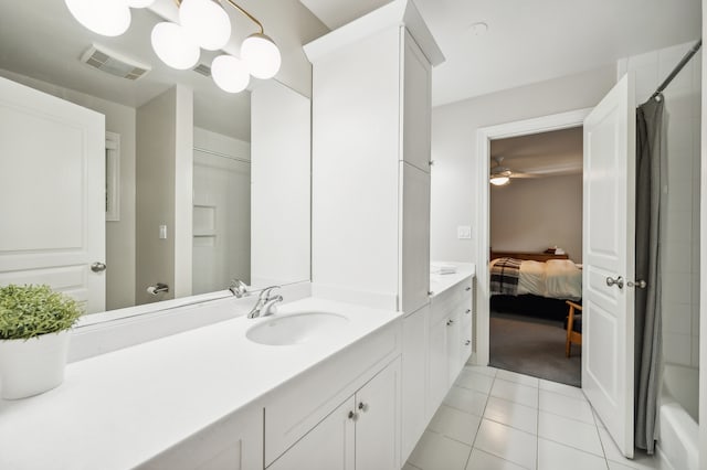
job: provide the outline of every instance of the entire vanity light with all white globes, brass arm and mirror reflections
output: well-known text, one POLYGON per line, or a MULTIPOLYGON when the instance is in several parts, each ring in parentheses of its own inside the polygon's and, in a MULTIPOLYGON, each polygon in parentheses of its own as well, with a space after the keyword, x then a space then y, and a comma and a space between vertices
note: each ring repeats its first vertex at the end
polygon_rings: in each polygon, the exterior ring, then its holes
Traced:
MULTIPOLYGON (((155 0, 64 0, 81 24, 98 34, 116 36, 130 25, 130 8, 149 7, 155 0)), ((187 70, 199 62, 199 47, 217 51, 231 39, 231 19, 219 0, 175 0, 179 24, 165 21, 152 29, 151 42, 157 56, 172 68, 187 70)), ((268 79, 279 71, 282 57, 275 42, 255 17, 234 0, 224 0, 258 28, 241 44, 241 58, 220 55, 212 64, 215 84, 228 93, 238 93, 250 75, 268 79)))

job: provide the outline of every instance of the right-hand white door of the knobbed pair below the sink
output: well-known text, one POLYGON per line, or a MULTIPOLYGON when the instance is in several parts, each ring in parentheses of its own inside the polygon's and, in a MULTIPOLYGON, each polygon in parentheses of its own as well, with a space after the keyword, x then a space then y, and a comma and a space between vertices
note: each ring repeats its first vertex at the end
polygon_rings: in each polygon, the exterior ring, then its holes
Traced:
POLYGON ((399 360, 391 363, 356 393, 356 413, 358 414, 356 468, 358 470, 399 470, 401 467, 399 360))

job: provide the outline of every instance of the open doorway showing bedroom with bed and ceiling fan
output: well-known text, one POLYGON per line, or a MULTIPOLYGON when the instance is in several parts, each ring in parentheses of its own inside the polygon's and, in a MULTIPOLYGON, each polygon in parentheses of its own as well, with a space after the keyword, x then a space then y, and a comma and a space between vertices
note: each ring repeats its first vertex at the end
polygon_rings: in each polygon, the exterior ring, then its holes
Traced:
POLYGON ((489 157, 489 365, 581 386, 579 338, 569 356, 566 340, 582 297, 582 128, 494 139, 489 157))

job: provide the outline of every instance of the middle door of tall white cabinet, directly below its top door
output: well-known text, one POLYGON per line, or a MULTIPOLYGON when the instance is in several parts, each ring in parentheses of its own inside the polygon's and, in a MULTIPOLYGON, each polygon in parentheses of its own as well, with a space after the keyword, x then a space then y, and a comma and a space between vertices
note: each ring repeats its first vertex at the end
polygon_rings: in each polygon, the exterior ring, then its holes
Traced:
POLYGON ((401 163, 401 309, 413 312, 430 301, 430 173, 401 163))

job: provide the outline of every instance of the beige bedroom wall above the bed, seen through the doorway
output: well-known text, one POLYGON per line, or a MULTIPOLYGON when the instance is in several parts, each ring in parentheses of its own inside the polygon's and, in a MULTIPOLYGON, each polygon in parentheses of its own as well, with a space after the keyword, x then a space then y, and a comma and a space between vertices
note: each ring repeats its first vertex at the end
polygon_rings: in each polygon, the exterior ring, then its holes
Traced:
POLYGON ((490 247, 542 252, 558 246, 582 261, 582 175, 514 179, 490 186, 490 247))

